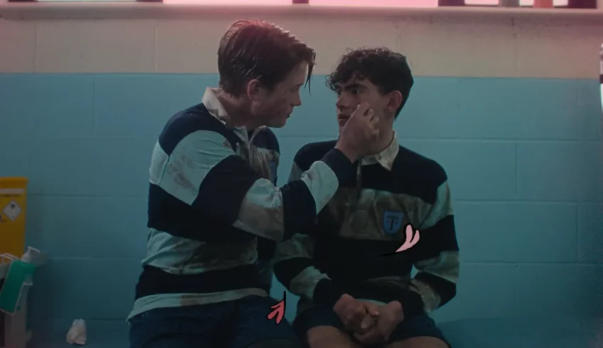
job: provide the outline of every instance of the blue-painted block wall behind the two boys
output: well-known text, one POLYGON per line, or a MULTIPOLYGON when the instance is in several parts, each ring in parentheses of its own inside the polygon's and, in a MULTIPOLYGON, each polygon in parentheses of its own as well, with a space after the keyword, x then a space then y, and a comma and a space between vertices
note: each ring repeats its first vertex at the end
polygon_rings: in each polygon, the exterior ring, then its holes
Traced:
MULTIPOLYGON (((28 244, 51 257, 35 279, 38 320, 125 318, 155 137, 216 82, 0 74, 0 176, 31 179, 28 244)), ((321 76, 311 87, 277 130, 281 183, 299 147, 336 136, 335 96, 321 76)), ((603 314, 601 114, 596 80, 416 79, 396 128, 448 171, 463 259, 436 318, 603 314)))

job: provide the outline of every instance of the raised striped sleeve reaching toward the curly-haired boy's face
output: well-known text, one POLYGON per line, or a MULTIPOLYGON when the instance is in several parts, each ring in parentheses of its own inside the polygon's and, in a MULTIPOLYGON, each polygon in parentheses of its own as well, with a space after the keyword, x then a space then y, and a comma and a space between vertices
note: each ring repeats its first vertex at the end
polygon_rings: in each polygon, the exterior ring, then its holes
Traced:
POLYGON ((162 167, 155 171, 160 177, 151 178, 154 184, 204 216, 283 240, 314 221, 352 163, 333 149, 299 179, 278 187, 262 179, 223 135, 197 130, 176 145, 165 163, 152 167, 162 167))

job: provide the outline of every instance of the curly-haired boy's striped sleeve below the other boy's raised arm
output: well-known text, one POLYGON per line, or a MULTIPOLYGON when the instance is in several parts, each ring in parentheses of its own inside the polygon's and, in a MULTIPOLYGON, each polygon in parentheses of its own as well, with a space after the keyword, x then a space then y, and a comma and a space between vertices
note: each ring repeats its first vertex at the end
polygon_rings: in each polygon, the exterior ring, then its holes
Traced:
MULTIPOLYGON (((294 162, 289 182, 299 180, 302 175, 302 169, 294 162)), ((314 227, 311 225, 309 229, 314 227)), ((289 292, 314 303, 333 305, 343 292, 335 287, 326 274, 314 267, 313 257, 314 238, 311 233, 297 233, 289 240, 277 243, 275 276, 289 292)))

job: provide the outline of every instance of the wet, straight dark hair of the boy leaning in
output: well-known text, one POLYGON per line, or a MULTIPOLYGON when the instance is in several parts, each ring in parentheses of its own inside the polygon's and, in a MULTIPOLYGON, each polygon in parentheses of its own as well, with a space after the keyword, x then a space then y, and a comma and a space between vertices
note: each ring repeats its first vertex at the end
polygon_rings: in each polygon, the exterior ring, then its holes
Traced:
POLYGON ((272 90, 302 62, 309 65, 307 84, 315 59, 313 49, 275 24, 260 20, 236 21, 220 40, 219 84, 234 96, 244 93, 250 79, 258 79, 272 90))

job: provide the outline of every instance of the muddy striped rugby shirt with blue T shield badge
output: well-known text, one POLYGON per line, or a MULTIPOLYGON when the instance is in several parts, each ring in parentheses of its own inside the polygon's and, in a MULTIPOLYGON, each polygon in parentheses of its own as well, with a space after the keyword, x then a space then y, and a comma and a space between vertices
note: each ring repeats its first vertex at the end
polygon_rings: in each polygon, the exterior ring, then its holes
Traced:
MULTIPOLYGON (((328 153, 335 141, 299 150, 290 181, 328 153)), ((333 306, 343 293, 359 299, 399 301, 410 318, 430 313, 456 293, 459 275, 450 189, 444 169, 394 140, 365 157, 309 230, 277 243, 275 276, 300 296, 298 314, 316 304, 333 306), (392 255, 407 224, 419 242, 392 255), (383 256, 390 254, 389 256, 383 256), (411 279, 413 266, 419 271, 411 279)))

